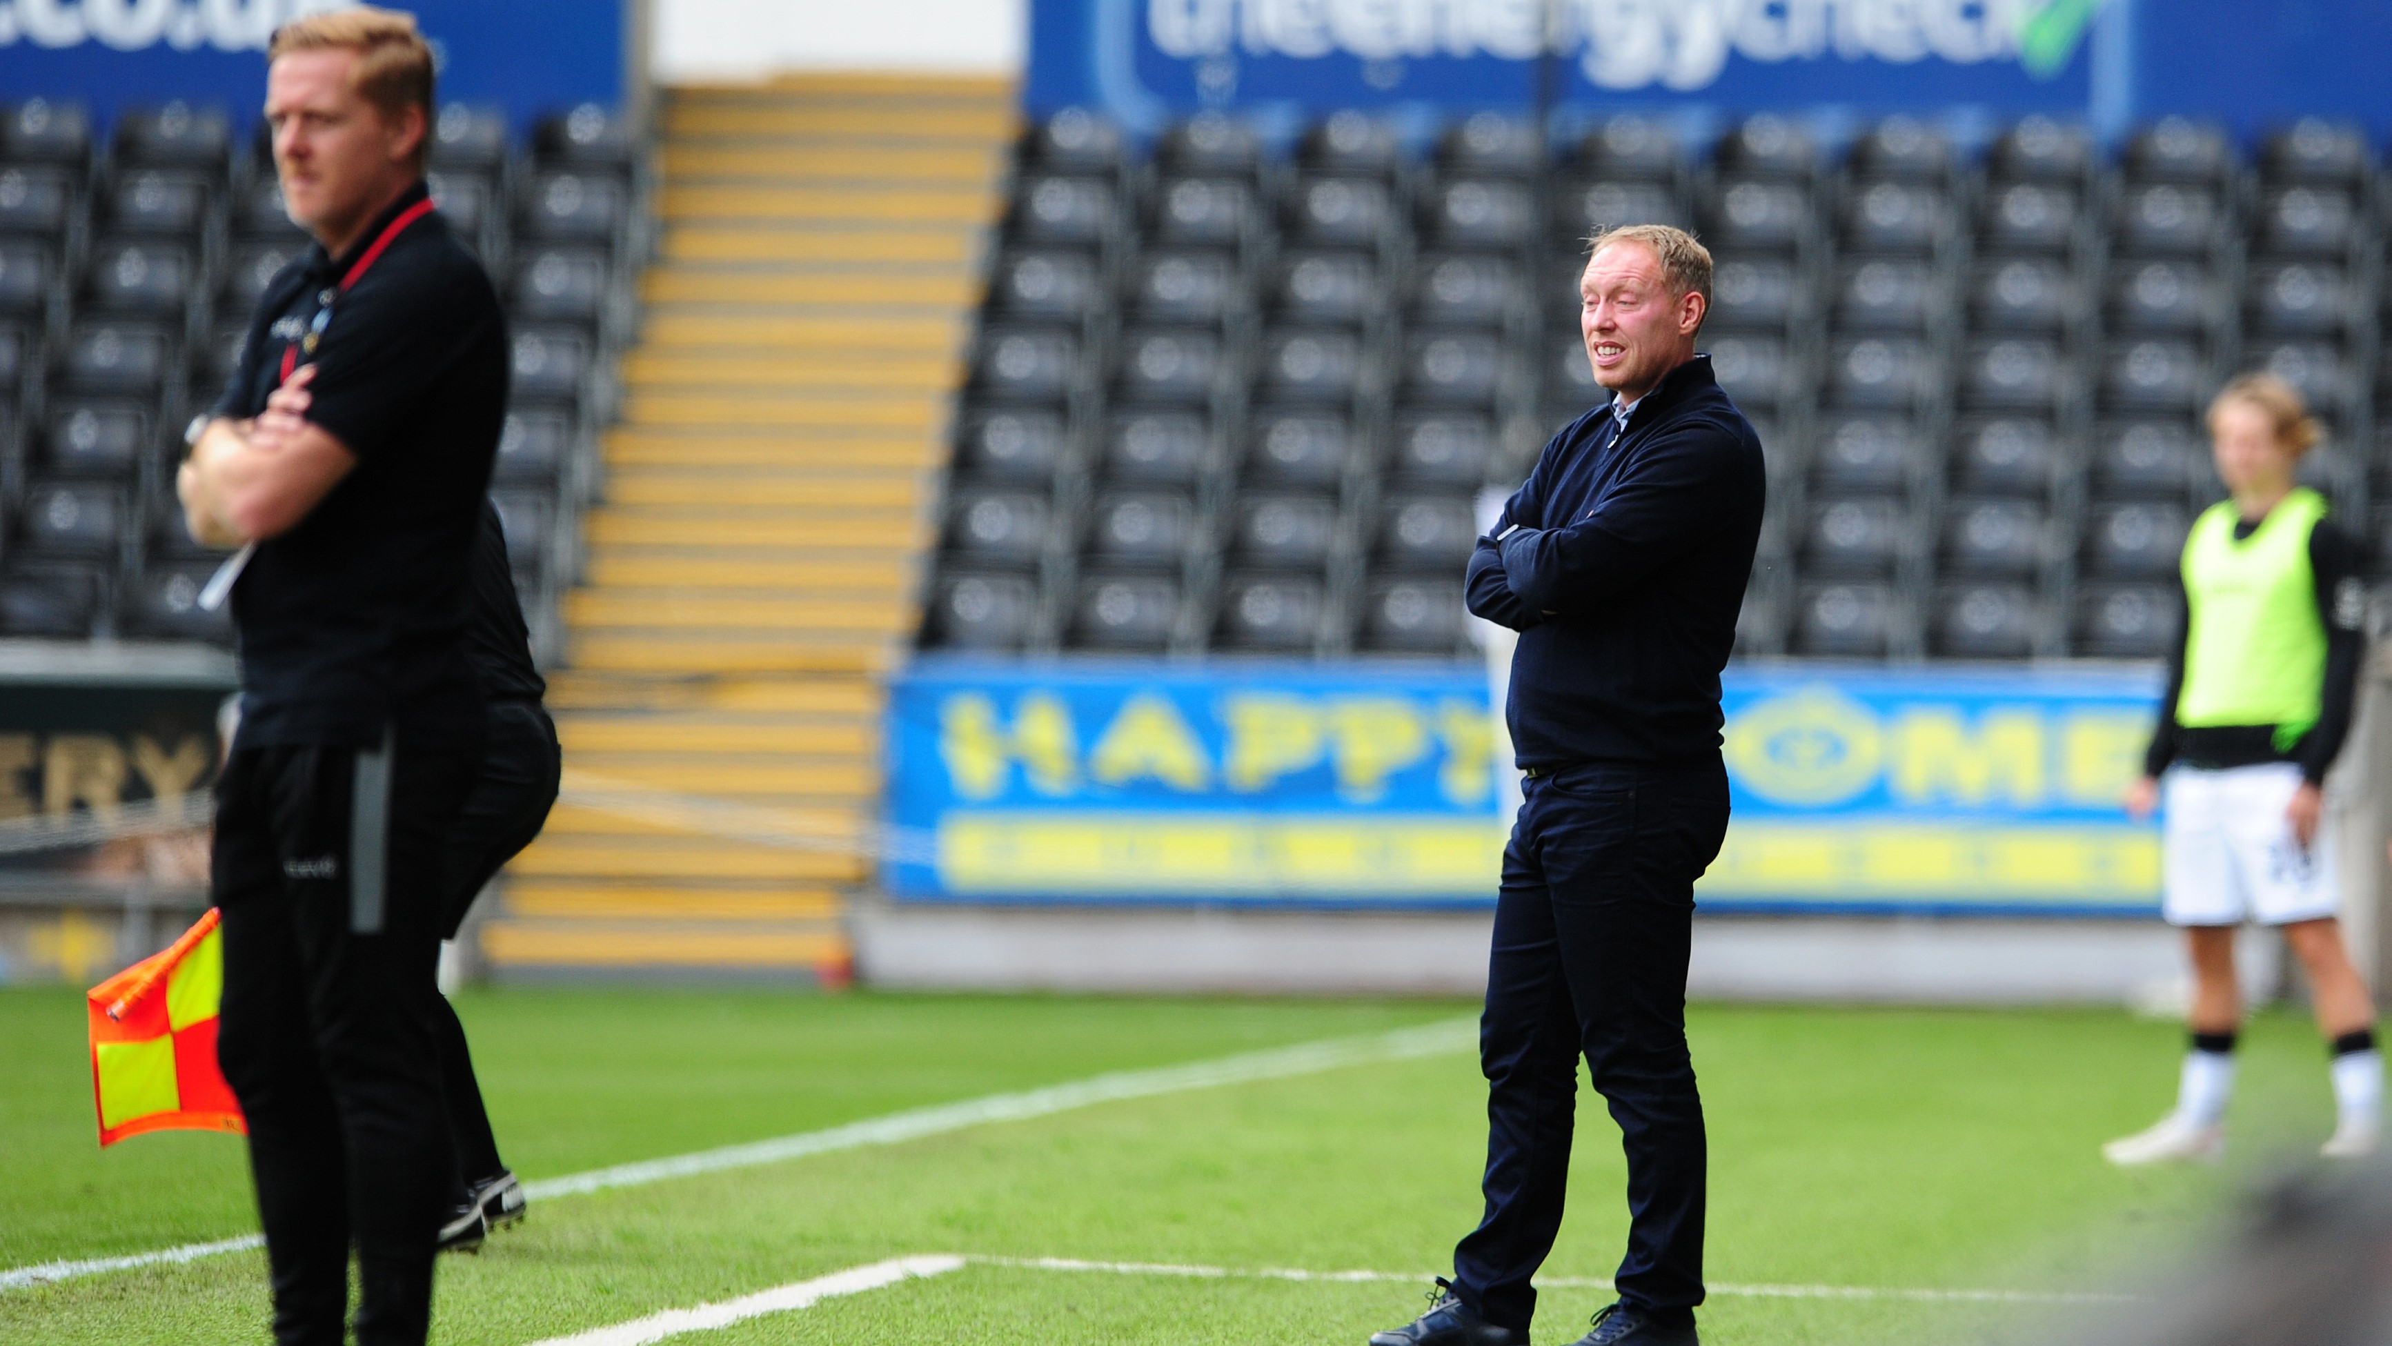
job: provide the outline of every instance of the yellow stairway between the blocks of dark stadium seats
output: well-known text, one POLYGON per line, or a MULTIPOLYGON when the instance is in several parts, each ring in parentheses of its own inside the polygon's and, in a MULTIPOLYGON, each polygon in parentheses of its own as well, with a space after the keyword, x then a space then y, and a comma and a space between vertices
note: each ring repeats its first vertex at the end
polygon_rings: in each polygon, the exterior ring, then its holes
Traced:
POLYGON ((663 253, 550 696, 567 799, 481 928, 498 975, 847 975, 1012 134, 995 81, 665 96, 663 253))

